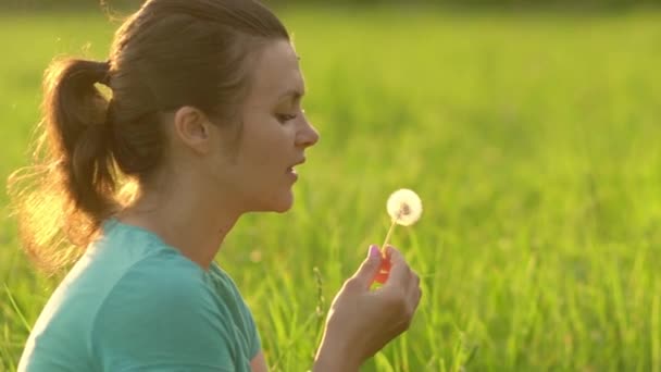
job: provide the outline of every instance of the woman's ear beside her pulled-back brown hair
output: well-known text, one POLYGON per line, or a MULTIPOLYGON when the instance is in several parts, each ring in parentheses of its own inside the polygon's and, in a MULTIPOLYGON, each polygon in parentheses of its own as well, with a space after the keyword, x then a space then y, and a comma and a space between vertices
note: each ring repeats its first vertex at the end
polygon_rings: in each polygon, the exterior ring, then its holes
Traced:
POLYGON ((185 106, 174 113, 174 139, 199 154, 212 150, 209 117, 199 109, 185 106))

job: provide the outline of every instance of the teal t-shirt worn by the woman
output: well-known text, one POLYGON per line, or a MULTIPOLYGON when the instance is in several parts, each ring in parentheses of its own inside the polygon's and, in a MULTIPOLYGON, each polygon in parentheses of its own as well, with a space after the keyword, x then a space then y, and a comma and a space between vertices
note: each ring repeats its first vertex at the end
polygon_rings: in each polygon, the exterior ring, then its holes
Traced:
POLYGON ((250 371, 260 351, 232 278, 157 235, 103 225, 35 324, 18 371, 250 371))

